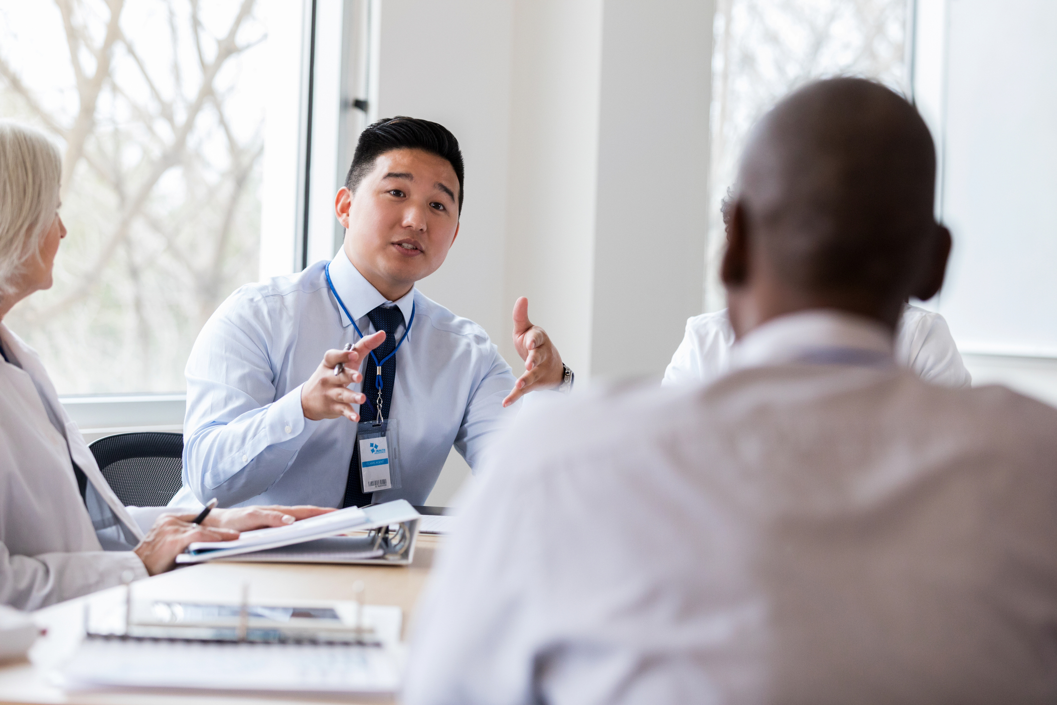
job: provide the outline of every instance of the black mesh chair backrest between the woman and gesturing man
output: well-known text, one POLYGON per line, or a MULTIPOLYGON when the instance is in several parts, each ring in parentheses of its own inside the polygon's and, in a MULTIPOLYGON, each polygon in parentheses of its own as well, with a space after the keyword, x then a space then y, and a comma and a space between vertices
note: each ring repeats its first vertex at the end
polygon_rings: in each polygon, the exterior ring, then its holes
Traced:
POLYGON ((126 506, 165 506, 184 483, 182 433, 117 433, 89 448, 126 506))

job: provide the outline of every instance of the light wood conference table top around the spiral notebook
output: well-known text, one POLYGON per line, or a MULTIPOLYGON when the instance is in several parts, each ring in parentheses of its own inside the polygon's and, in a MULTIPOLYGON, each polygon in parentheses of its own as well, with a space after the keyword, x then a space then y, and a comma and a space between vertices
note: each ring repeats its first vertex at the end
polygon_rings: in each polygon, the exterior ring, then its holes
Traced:
MULTIPOLYGON (((212 562, 180 568, 134 583, 137 599, 230 600, 238 602, 244 586, 251 601, 286 599, 357 598, 353 585, 361 580, 358 597, 366 605, 395 605, 404 613, 404 638, 413 618, 419 593, 425 585, 441 537, 420 534, 410 565, 335 565, 293 563, 212 562)), ((194 691, 110 690, 66 692, 51 685, 48 672, 75 647, 84 633, 85 604, 107 605, 122 599, 125 588, 104 590, 42 609, 34 614, 45 628, 30 651, 29 660, 0 663, 0 705, 71 703, 85 705, 251 705, 267 703, 391 703, 389 697, 296 695, 271 693, 218 693, 194 691)))

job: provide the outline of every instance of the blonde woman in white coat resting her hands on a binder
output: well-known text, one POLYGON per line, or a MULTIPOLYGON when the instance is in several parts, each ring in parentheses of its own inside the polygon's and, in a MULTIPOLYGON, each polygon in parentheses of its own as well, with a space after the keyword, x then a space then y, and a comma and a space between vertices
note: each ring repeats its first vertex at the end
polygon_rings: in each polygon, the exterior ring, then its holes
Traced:
POLYGON ((126 507, 59 404, 37 354, 3 324, 52 285, 67 236, 61 159, 39 132, 0 122, 0 604, 37 609, 171 569, 191 541, 292 523, 329 509, 216 509, 204 525, 126 507))

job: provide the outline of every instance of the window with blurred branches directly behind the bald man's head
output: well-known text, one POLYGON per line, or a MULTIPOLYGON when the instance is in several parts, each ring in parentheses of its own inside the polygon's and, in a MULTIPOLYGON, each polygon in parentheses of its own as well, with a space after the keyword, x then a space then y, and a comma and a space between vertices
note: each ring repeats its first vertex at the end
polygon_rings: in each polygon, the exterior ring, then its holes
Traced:
POLYGON ((719 0, 713 25, 711 170, 705 309, 719 282, 720 202, 753 124, 791 90, 826 76, 877 78, 906 92, 907 0, 719 0))

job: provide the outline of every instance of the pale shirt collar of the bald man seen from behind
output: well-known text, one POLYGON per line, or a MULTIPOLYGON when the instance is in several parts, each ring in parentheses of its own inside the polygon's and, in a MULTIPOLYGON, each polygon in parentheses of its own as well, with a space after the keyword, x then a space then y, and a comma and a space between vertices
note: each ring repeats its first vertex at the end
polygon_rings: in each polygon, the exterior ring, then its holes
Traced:
POLYGON ((882 323, 832 309, 814 309, 779 316, 749 331, 735 344, 735 369, 795 363, 824 350, 863 351, 892 356, 893 334, 882 323))

